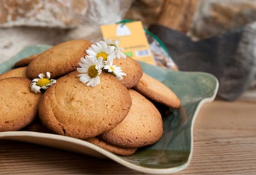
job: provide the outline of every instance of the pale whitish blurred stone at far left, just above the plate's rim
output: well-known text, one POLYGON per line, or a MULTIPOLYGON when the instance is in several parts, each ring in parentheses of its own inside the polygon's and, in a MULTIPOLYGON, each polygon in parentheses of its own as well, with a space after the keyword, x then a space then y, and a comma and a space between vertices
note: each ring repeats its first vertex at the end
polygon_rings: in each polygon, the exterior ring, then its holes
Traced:
POLYGON ((0 28, 0 63, 10 59, 27 46, 61 43, 68 32, 58 28, 0 28))

